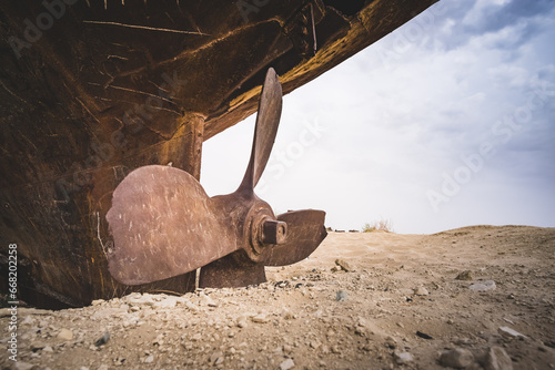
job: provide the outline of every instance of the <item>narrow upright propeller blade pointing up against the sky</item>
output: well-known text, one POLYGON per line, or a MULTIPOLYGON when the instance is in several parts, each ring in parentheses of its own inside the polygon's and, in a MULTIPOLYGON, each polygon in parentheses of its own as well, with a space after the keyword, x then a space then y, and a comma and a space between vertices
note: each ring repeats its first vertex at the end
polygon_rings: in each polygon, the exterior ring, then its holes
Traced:
POLYGON ((269 69, 259 102, 251 160, 241 187, 253 189, 266 167, 280 125, 282 109, 281 83, 274 69, 269 69))

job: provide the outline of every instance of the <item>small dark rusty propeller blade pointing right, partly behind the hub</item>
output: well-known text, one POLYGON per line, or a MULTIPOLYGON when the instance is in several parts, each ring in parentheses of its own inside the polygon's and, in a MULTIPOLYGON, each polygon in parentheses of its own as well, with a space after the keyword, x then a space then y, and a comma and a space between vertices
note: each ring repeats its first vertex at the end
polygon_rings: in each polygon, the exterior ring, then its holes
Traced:
POLYGON ((268 251, 266 266, 285 266, 303 260, 326 237, 325 212, 315 209, 294 210, 281 214, 278 220, 287 224, 285 244, 275 245, 268 251))

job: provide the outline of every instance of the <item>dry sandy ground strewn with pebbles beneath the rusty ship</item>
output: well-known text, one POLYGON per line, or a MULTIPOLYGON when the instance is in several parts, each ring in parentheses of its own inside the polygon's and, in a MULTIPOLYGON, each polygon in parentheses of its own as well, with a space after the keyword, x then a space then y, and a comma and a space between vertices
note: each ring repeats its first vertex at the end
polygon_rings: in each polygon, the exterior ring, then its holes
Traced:
POLYGON ((18 362, 2 309, 0 366, 554 369, 554 258, 555 228, 331 233, 259 287, 20 308, 18 362))

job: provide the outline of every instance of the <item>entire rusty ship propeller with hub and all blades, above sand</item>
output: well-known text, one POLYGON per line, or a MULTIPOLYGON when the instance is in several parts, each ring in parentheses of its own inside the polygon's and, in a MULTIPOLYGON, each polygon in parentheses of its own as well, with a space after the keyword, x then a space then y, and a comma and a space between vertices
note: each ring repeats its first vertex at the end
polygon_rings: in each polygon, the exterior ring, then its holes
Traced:
POLYGON ((254 194, 272 152, 281 110, 281 84, 269 69, 249 166, 232 194, 210 198, 190 174, 159 165, 140 167, 118 185, 107 214, 114 239, 109 270, 118 281, 145 284, 202 267, 201 287, 248 286, 265 281, 269 261, 293 264, 320 245, 326 235, 324 212, 306 209, 275 217, 254 194))

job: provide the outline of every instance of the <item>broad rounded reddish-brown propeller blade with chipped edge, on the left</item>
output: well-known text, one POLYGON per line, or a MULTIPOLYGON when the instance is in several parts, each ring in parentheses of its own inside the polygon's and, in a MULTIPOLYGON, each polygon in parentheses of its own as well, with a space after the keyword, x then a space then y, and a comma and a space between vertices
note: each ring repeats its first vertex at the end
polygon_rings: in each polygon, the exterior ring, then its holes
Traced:
POLYGON ((140 167, 113 192, 107 214, 114 239, 109 270, 122 284, 140 285, 202 267, 238 249, 224 217, 186 172, 140 167))

